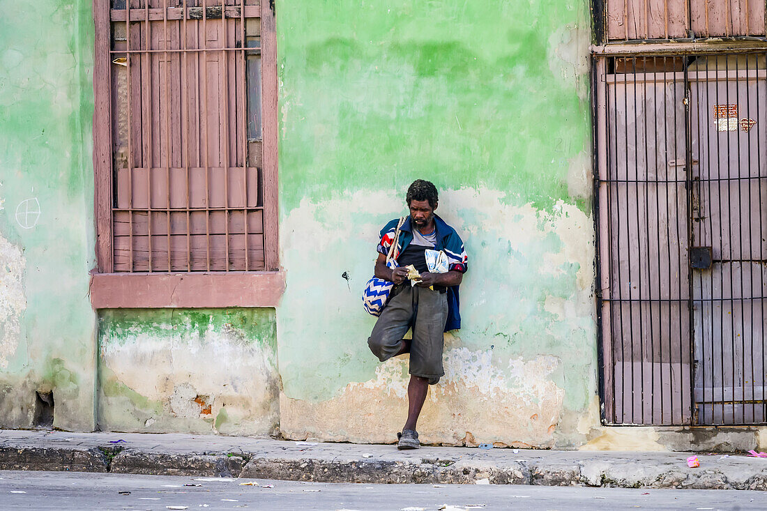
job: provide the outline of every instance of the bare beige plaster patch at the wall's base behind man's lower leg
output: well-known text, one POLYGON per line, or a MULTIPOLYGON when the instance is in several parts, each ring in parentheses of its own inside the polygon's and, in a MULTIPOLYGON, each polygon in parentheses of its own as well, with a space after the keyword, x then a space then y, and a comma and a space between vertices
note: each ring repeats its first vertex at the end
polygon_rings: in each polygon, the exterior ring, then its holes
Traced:
MULTIPOLYGON (((549 376, 559 362, 542 356, 507 364, 511 377, 493 366, 489 351, 447 351, 445 376, 430 387, 420 418, 421 440, 551 447, 564 391, 549 376)), ((329 401, 308 404, 283 393, 281 430, 296 440, 393 442, 407 416, 407 381, 403 358, 381 364, 373 379, 348 384, 329 401)))

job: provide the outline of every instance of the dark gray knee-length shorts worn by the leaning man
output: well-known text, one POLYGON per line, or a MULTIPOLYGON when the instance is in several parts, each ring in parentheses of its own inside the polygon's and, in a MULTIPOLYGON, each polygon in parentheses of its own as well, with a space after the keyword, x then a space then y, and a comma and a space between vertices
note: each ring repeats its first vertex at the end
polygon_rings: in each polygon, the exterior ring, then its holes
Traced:
POLYGON ((400 351, 400 341, 413 328, 410 374, 429 378, 433 385, 445 374, 442 352, 446 322, 447 294, 405 281, 392 289, 367 345, 378 360, 389 360, 400 351))

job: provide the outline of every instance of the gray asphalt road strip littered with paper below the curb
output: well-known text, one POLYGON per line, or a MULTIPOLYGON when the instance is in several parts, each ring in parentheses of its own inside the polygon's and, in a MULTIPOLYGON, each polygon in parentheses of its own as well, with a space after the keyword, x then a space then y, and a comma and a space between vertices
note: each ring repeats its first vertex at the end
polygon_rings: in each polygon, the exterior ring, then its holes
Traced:
POLYGON ((556 486, 337 484, 0 471, 0 509, 765 509, 767 493, 556 486), (254 482, 258 486, 242 486, 254 482), (193 485, 193 486, 189 486, 193 485), (199 485, 199 486, 197 486, 199 485), (268 487, 267 485, 273 485, 268 487), (443 508, 443 506, 446 506, 443 508), (452 507, 451 507, 452 506, 452 507))

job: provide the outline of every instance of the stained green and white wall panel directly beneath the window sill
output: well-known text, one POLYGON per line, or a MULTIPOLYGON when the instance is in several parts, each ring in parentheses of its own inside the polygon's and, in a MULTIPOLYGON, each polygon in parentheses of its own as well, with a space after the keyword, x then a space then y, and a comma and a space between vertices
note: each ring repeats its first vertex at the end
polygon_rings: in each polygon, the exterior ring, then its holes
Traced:
POLYGON ((275 431, 274 309, 105 310, 99 340, 100 429, 275 431))

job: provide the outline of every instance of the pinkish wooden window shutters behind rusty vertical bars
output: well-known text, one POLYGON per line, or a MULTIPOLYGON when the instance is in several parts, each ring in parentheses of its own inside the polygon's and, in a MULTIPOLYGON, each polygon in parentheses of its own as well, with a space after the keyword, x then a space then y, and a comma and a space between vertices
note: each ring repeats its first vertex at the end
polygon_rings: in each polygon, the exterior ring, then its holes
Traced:
POLYGON ((110 7, 114 272, 265 269, 262 145, 248 136, 260 45, 246 30, 260 3, 110 7))

